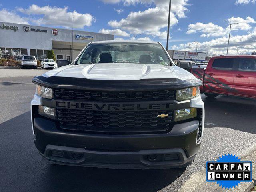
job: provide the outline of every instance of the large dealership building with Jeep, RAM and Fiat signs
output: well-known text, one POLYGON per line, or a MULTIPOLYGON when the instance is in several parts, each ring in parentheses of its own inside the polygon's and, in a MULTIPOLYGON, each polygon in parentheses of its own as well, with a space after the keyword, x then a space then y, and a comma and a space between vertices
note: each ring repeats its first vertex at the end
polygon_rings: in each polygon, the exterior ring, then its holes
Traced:
POLYGON ((89 42, 101 40, 114 40, 114 35, 0 22, 0 49, 6 59, 33 55, 42 60, 52 49, 57 60, 74 60, 89 42))

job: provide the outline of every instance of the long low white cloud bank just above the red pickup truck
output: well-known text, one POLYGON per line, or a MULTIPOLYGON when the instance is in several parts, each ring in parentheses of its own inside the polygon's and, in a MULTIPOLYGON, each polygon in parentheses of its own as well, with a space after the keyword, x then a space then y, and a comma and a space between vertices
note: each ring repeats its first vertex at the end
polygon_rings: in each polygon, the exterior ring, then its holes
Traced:
MULTIPOLYGON (((210 55, 226 54, 228 45, 228 37, 216 38, 210 41, 198 43, 198 51, 208 52, 210 55)), ((248 54, 253 50, 256 50, 256 28, 252 33, 247 35, 230 36, 228 54, 236 54, 236 50, 239 50, 239 54, 248 54)), ((196 42, 188 42, 186 44, 179 44, 178 46, 172 46, 174 50, 187 50, 195 51, 196 42)))

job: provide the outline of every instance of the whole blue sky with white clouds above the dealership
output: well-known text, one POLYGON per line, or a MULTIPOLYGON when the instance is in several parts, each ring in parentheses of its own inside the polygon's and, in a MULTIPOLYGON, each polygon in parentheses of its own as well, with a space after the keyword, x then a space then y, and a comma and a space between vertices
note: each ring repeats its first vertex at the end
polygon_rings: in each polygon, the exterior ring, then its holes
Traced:
MULTIPOLYGON (((0 0, 0 21, 114 34, 166 46, 169 0, 0 0)), ((256 51, 256 0, 172 0, 169 49, 256 51)), ((1 34, 1 31, 0 31, 1 34)), ((1 44, 1 42, 0 42, 1 44)))

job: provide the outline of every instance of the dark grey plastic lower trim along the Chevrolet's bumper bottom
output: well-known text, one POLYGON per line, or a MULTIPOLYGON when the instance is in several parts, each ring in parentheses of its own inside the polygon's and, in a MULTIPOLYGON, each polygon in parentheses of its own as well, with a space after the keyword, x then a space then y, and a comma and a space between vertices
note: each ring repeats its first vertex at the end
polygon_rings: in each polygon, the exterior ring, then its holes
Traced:
POLYGON ((131 152, 103 152, 56 145, 47 145, 44 154, 41 155, 43 156, 44 160, 53 164, 112 169, 163 169, 186 167, 190 165, 195 158, 195 156, 187 158, 186 153, 181 148, 140 150, 131 152), (83 154, 83 156, 78 160, 61 158, 51 156, 52 150, 79 153, 83 154), (177 154, 179 159, 150 162, 144 158, 146 155, 152 154, 177 154))

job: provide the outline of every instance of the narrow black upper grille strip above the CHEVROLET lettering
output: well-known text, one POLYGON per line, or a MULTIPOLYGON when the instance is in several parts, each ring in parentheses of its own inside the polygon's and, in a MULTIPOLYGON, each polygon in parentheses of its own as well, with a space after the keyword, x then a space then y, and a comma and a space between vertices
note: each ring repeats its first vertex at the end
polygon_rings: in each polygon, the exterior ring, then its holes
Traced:
POLYGON ((160 91, 89 91, 54 89, 56 99, 94 101, 163 101, 174 100, 174 90, 160 91))

